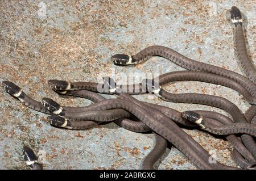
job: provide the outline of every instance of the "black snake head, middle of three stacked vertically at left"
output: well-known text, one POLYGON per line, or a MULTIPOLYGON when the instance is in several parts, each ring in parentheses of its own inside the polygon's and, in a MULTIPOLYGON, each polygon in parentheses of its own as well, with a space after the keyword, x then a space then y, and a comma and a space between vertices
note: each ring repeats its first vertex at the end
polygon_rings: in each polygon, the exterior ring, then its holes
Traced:
POLYGON ((55 115, 64 116, 65 113, 63 112, 63 108, 60 106, 60 104, 56 103, 54 100, 50 98, 43 98, 42 104, 46 109, 55 115))

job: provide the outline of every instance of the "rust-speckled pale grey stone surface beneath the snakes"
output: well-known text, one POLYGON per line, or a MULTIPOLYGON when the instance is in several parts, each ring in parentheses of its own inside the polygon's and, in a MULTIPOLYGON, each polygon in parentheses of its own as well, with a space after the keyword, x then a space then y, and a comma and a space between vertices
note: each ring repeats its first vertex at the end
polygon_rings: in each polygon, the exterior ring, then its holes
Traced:
MULTIPOLYGON (((164 45, 194 60, 241 73, 228 12, 233 5, 246 15, 247 43, 255 60, 255 1, 1 1, 0 81, 15 82, 36 100, 47 96, 64 106, 84 106, 91 102, 56 95, 47 80, 95 82, 112 72, 183 70, 159 57, 129 67, 110 61, 115 53, 134 54, 150 45, 164 45)), ((179 82, 164 88, 222 96, 242 112, 250 106, 236 91, 208 83, 179 82)), ((224 113, 150 95, 135 97, 179 111, 224 113)), ((0 99, 0 169, 28 169, 23 144, 46 154, 45 169, 139 169, 154 146, 153 134, 133 133, 114 123, 84 131, 57 129, 47 123, 47 115, 30 110, 3 89, 0 99)), ((227 141, 200 131, 186 132, 208 151, 215 151, 218 161, 236 166, 227 141)), ((168 149, 158 165, 158 169, 196 169, 175 148, 168 149)))

